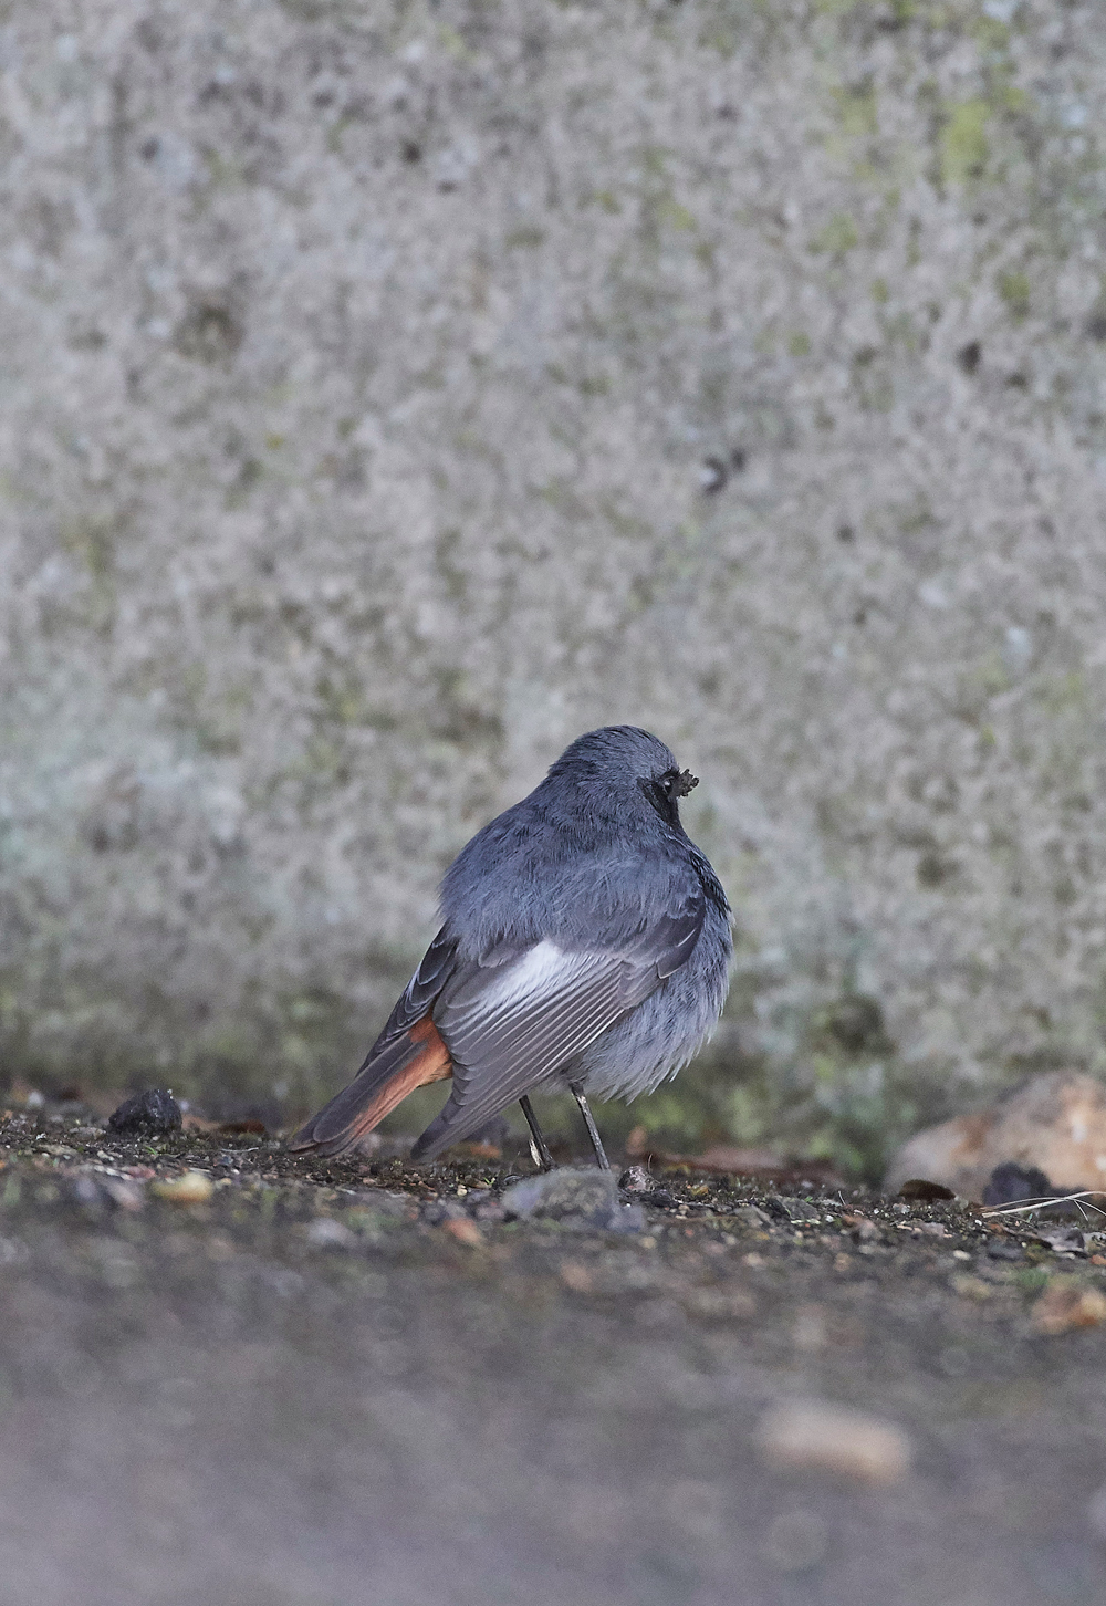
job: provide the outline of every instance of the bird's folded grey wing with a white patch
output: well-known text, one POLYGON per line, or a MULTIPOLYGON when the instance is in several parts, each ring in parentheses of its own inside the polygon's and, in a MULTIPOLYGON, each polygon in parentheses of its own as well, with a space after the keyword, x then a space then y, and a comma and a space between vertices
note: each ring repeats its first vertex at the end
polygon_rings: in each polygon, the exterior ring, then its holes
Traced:
POLYGON ((512 1100, 552 1078, 690 959, 703 928, 701 890, 616 948, 562 949, 546 940, 459 965, 433 1004, 453 1062, 453 1092, 413 1150, 433 1158, 512 1100))

